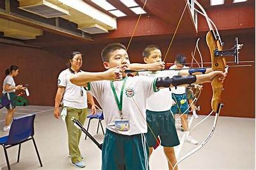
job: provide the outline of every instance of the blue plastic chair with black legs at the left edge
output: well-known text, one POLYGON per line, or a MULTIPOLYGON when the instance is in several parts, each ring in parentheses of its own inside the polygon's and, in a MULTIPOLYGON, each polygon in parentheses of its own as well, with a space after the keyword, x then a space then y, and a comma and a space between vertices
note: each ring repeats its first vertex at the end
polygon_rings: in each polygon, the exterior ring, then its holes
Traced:
POLYGON ((26 116, 22 116, 19 118, 13 118, 12 125, 10 127, 10 132, 8 135, 0 137, 0 144, 4 148, 4 155, 6 158, 6 163, 8 166, 8 169, 10 170, 10 163, 7 155, 8 148, 11 148, 12 146, 16 146, 19 144, 19 151, 18 151, 18 158, 17 162, 19 162, 20 158, 20 146, 22 143, 33 140, 36 154, 38 157, 38 160, 40 162, 40 166, 42 167, 42 162, 38 153, 38 150, 36 148, 36 143, 34 139, 34 120, 35 120, 35 114, 29 114, 26 116))

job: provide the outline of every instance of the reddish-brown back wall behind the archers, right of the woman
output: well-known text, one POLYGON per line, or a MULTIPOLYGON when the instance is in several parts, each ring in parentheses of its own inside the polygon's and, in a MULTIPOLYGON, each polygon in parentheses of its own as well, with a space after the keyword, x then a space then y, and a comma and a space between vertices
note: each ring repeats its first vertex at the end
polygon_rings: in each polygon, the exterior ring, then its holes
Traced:
MULTIPOLYGON (((225 42, 225 49, 230 49, 234 46, 235 36, 239 36, 239 42, 244 43, 244 47, 241 49, 239 56, 240 60, 255 61, 255 36, 252 33, 222 36, 223 42, 225 42)), ((161 41, 133 40, 128 50, 130 60, 131 62, 142 63, 142 50, 149 44, 159 45, 164 56, 166 54, 169 42, 169 37, 167 37, 166 40, 161 41)), ((166 63, 173 62, 177 54, 186 55, 188 62, 190 62, 190 54, 191 51, 193 51, 195 48, 195 42, 196 39, 175 39, 166 58, 166 63)), ((102 59, 100 58, 100 52, 104 45, 106 44, 84 45, 76 48, 77 50, 81 50, 83 53, 84 70, 89 70, 92 72, 104 70, 104 67, 102 66, 102 59)), ((125 42, 124 45, 127 45, 127 42, 125 42)), ((200 37, 199 47, 200 51, 202 52, 204 62, 211 61, 204 36, 200 37)), ((196 53, 196 59, 200 61, 198 53, 196 53)), ((228 61, 233 61, 233 58, 228 58, 228 61)), ((255 117, 255 64, 253 63, 252 65, 252 67, 239 67, 229 69, 229 74, 224 84, 225 90, 223 91, 223 102, 225 107, 223 107, 221 115, 241 116, 247 118, 255 117)), ((204 91, 198 100, 198 104, 201 108, 200 114, 206 114, 211 111, 211 97, 211 84, 205 84, 204 91)))

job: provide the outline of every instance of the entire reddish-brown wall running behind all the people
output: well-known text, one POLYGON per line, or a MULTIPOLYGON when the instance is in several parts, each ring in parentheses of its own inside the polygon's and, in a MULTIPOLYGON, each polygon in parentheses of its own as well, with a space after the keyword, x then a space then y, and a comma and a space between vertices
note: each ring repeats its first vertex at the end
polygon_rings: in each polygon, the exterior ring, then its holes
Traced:
MULTIPOLYGON (((223 36, 225 49, 234 45, 236 35, 223 36)), ((141 57, 142 50, 149 44, 159 45, 163 56, 166 53, 170 37, 157 41, 138 41, 133 40, 129 48, 129 57, 132 62, 143 62, 141 57)), ((191 51, 195 47, 196 39, 175 38, 173 41, 166 63, 173 62, 175 55, 184 54, 191 61, 191 51)), ((255 35, 244 33, 239 35, 239 42, 244 43, 241 49, 241 60, 255 60, 255 35)), ((125 42, 127 43, 127 42, 125 42)), ((124 43, 124 44, 125 44, 124 43)), ((76 48, 63 46, 60 48, 31 49, 27 47, 18 47, 14 45, 0 44, 1 63, 0 80, 3 82, 4 70, 12 65, 20 67, 20 74, 15 81, 17 83, 28 83, 31 97, 29 104, 33 105, 54 105, 54 96, 56 93, 56 80, 58 73, 65 68, 67 56, 72 50, 80 50, 83 54, 83 70, 97 72, 104 70, 100 52, 106 44, 99 45, 80 45, 76 48)), ((127 45, 127 44, 125 44, 127 45)), ((204 61, 211 61, 209 50, 205 43, 204 36, 199 43, 204 61)), ((196 59, 200 60, 198 55, 196 59)), ((228 59, 232 61, 233 58, 228 59)), ((227 79, 225 80, 225 90, 223 91, 223 102, 225 107, 221 111, 222 116, 239 116, 255 118, 255 64, 252 67, 230 68, 227 79)), ((200 114, 206 114, 211 111, 211 85, 205 84, 204 90, 198 104, 200 105, 200 114)))

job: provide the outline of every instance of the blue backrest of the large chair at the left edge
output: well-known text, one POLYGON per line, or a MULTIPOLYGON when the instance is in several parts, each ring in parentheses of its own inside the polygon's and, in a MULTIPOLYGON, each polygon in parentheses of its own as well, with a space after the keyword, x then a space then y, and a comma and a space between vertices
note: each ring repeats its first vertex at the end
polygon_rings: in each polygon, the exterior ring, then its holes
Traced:
POLYGON ((5 144, 16 144, 33 137, 35 114, 14 118, 5 144))

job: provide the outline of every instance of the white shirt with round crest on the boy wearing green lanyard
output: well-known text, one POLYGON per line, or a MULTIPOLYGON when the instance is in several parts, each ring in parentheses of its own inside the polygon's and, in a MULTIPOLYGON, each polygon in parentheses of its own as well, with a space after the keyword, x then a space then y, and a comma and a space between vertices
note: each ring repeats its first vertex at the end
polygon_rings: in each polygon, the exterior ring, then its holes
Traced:
MULTIPOLYGON (((88 90, 101 105, 107 124, 106 127, 109 130, 123 135, 146 133, 146 104, 147 99, 156 91, 154 79, 146 76, 127 77, 126 79, 123 92, 122 113, 124 118, 129 118, 130 129, 128 131, 115 130, 115 120, 116 118, 120 118, 120 113, 111 89, 111 81, 90 82, 88 90)), ((119 101, 123 82, 113 82, 119 101)))

